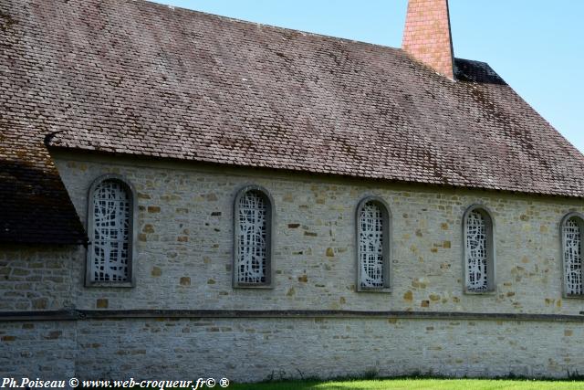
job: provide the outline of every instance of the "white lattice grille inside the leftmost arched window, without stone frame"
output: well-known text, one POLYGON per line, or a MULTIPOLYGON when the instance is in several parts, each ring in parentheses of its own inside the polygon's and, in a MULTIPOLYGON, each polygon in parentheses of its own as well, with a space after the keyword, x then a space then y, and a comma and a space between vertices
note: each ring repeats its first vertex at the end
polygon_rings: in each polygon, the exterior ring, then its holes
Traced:
POLYGON ((93 191, 91 281, 130 281, 130 193, 117 180, 93 191))

